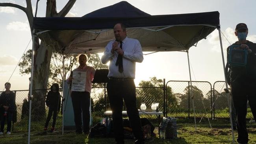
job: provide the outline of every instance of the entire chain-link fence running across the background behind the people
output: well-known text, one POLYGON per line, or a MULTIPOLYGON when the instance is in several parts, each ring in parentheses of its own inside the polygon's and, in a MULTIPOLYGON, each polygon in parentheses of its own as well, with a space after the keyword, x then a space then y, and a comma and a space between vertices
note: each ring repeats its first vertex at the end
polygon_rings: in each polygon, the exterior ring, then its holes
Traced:
MULTIPOLYGON (((192 81, 192 85, 190 81, 168 81, 166 83, 165 93, 163 87, 136 87, 136 104, 137 108, 140 109, 141 103, 144 102, 147 107, 146 111, 151 111, 152 103, 159 103, 158 110, 165 112, 167 116, 173 117, 189 118, 195 114, 198 118, 229 118, 224 86, 224 81, 216 81, 213 85, 213 89, 211 84, 207 81, 192 81), (163 94, 165 94, 166 103, 164 103, 163 94), (195 113, 193 111, 192 98, 195 113)), ((46 96, 49 90, 43 91, 46 96)), ((28 131, 29 90, 14 90, 13 92, 15 92, 15 107, 17 110, 13 114, 13 132, 26 132, 28 131)), ((62 90, 60 90, 60 92, 62 95, 62 90)), ((45 102, 45 96, 43 97, 43 102, 45 102)), ((71 100, 71 98, 69 98, 69 100, 71 100)), ((33 102, 32 98, 31 131, 42 131, 45 126, 48 107, 43 104, 43 107, 40 107, 42 110, 38 111, 38 105, 40 105, 40 103, 33 102), (36 119, 37 117, 41 117, 41 119, 38 120, 36 119)), ((93 87, 91 92, 91 116, 93 117, 93 124, 100 122, 100 120, 104 118, 104 111, 108 110, 111 109, 106 85, 105 87, 93 87)), ((123 110, 126 110, 125 103, 123 110)), ((61 112, 58 113, 55 126, 59 131, 62 129, 61 114, 61 112)), ((147 117, 151 119, 152 122, 156 121, 156 118, 152 116, 142 115, 141 117, 147 117)), ((247 118, 252 118, 250 109, 248 109, 247 118)), ((50 120, 49 126, 51 126, 51 124, 52 119, 50 120)))

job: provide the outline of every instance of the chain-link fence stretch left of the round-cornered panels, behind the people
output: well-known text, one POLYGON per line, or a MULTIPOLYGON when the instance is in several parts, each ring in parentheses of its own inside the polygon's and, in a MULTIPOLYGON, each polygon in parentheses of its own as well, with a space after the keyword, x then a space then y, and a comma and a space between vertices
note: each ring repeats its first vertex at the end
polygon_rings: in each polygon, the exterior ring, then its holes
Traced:
MULTIPOLYGON (((37 90, 39 91, 39 90, 37 90)), ((45 92, 45 96, 43 96, 43 102, 45 102, 46 94, 49 91, 40 90, 45 92)), ((28 131, 28 115, 29 115, 29 90, 14 90, 15 92, 15 105, 16 111, 13 113, 13 126, 12 131, 14 133, 19 132, 27 132, 28 131)), ((43 92, 41 92, 43 93, 43 92)), ((62 90, 60 89, 60 93, 62 95, 62 90)), ((159 103, 159 111, 163 110, 163 87, 137 87, 136 88, 137 95, 137 108, 140 109, 141 103, 145 102, 147 109, 146 111, 151 110, 151 105, 154 102, 159 103)), ((68 98, 65 100, 71 100, 68 98)), ((33 102, 32 97, 32 118, 31 118, 31 131, 43 131, 45 127, 46 117, 48 114, 48 107, 43 104, 39 106, 40 102, 33 102), (41 110, 39 110, 41 109, 41 110), (40 119, 38 119, 40 118, 40 119)), ((65 108, 63 108, 65 111, 65 108)), ((126 110, 124 104, 124 111, 126 110)), ((106 88, 104 87, 93 87, 91 90, 91 116, 93 118, 93 124, 96 124, 104 118, 104 111, 110 110, 108 94, 106 92, 106 88), (105 97, 106 94, 106 97, 105 97)), ((141 116, 152 118, 152 116, 141 116)), ((154 117, 154 116, 153 116, 154 117)), ((152 121, 156 121, 156 118, 152 118, 152 121)), ((52 118, 49 122, 49 127, 52 125, 52 118)), ((6 127, 5 127, 6 128, 6 127)), ((62 130, 62 112, 60 111, 57 115, 55 129, 57 131, 62 130)))

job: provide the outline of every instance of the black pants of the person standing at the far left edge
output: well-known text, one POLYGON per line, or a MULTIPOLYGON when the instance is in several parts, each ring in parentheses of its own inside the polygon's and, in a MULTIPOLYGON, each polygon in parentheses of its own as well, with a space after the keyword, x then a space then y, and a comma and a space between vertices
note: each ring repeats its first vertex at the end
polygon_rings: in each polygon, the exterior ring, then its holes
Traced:
POLYGON ((4 133, 4 123, 6 119, 7 119, 7 131, 11 132, 11 121, 13 119, 13 113, 7 111, 7 116, 4 116, 4 110, 1 110, 0 114, 1 114, 0 132, 4 133))

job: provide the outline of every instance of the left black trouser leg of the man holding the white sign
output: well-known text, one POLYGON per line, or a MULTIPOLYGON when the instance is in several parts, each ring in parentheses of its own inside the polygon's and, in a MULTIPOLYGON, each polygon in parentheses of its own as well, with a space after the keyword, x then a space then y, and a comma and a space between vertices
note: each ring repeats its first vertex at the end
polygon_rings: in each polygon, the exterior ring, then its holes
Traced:
POLYGON ((82 133, 82 109, 81 109, 81 98, 79 92, 71 92, 72 105, 74 110, 74 121, 76 125, 76 132, 82 133))

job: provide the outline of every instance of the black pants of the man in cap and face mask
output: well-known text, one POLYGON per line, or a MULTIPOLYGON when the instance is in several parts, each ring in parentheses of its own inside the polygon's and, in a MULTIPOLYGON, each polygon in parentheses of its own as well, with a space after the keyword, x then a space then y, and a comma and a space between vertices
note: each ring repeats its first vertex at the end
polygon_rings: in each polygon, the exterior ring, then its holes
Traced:
POLYGON ((236 109, 237 120, 237 142, 247 143, 248 132, 246 128, 247 100, 254 119, 256 119, 256 83, 246 81, 233 81, 231 83, 231 92, 234 107, 236 109))

